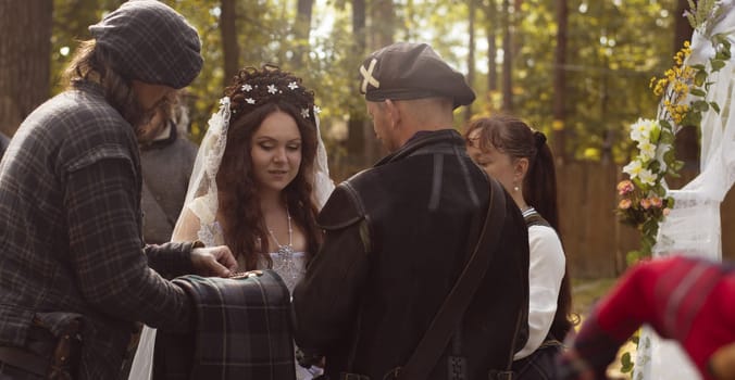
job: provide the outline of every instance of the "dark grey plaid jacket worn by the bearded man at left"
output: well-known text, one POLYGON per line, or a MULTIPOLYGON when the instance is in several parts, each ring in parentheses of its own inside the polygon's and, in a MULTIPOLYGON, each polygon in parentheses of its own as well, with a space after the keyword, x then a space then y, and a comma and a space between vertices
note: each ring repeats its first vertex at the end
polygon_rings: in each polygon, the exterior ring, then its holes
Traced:
POLYGON ((0 162, 0 345, 23 346, 34 317, 80 314, 79 379, 113 379, 133 321, 189 327, 188 297, 149 265, 190 273, 191 244, 144 248, 137 149, 91 83, 23 122, 0 162))

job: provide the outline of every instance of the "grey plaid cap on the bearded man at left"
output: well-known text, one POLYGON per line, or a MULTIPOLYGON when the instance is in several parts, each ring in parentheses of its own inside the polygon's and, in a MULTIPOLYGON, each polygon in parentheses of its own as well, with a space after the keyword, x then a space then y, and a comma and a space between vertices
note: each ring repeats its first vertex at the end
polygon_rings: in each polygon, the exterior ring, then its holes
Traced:
POLYGON ((180 14, 155 0, 130 0, 89 27, 126 79, 176 89, 201 71, 199 35, 180 14))

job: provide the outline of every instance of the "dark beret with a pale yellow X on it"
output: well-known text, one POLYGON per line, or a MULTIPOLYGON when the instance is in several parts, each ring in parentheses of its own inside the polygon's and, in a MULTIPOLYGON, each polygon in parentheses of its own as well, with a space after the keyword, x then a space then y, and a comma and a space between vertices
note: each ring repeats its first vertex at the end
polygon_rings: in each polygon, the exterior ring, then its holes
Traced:
POLYGON ((440 97, 452 99, 458 107, 475 100, 464 76, 426 43, 396 42, 375 51, 360 74, 360 92, 373 102, 440 97))

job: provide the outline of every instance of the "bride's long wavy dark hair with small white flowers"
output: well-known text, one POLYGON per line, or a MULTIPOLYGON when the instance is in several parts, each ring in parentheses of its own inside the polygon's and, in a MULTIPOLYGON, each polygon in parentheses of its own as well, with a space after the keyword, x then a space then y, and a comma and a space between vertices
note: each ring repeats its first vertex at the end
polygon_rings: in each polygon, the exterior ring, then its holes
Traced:
POLYGON ((272 65, 241 69, 224 92, 231 99, 231 121, 216 181, 225 244, 245 258, 246 270, 256 269, 259 262, 273 265, 250 151, 261 123, 281 111, 296 121, 301 135, 301 166, 283 197, 292 220, 306 235, 308 262, 321 243, 312 194, 317 145, 314 94, 302 87, 300 78, 272 65))

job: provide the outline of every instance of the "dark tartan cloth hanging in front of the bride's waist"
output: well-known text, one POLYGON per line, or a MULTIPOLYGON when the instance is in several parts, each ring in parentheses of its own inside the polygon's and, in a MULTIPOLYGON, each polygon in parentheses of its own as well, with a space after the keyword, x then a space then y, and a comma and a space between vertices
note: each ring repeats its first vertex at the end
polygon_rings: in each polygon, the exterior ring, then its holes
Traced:
POLYGON ((273 270, 261 276, 174 279, 194 302, 191 334, 159 331, 155 379, 295 379, 290 294, 273 270))

